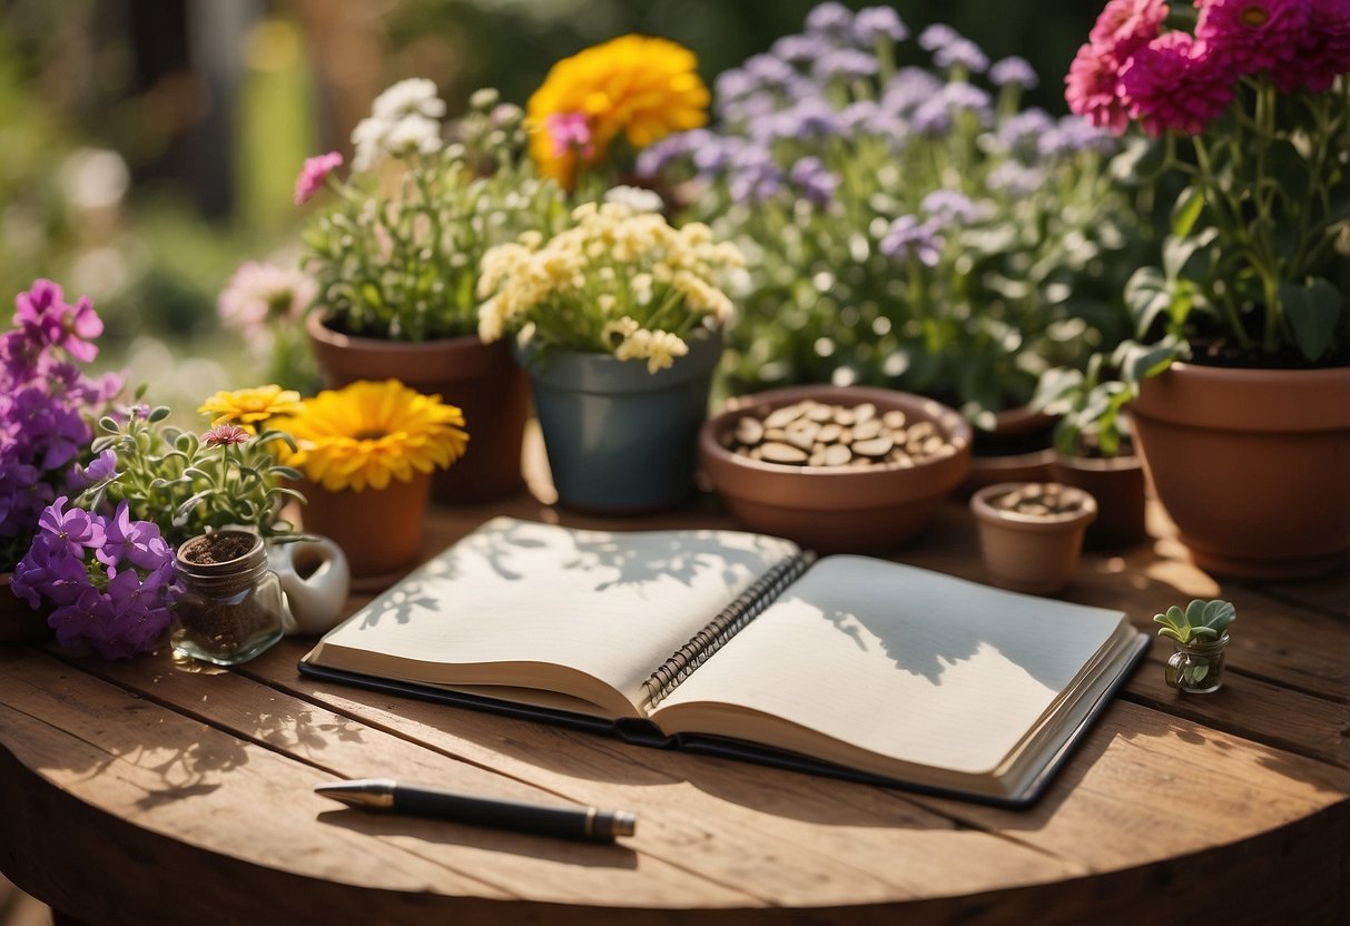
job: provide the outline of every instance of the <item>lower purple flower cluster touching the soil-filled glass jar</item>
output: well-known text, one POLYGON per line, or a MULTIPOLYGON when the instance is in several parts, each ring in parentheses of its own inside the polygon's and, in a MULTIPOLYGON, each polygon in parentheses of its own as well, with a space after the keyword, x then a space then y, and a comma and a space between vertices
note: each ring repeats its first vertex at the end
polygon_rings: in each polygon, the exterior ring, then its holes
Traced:
POLYGON ((38 518, 32 545, 14 571, 14 593, 47 618, 63 647, 88 645, 104 659, 148 652, 169 625, 178 594, 174 551, 150 521, 132 521, 127 502, 111 517, 66 497, 38 518))

